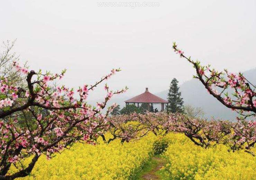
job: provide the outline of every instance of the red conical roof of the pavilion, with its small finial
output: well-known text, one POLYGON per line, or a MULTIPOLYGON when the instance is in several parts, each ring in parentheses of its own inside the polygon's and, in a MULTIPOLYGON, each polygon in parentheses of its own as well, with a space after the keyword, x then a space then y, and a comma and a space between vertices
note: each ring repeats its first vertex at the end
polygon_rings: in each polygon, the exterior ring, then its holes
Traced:
POLYGON ((168 103, 168 101, 158 97, 152 93, 148 92, 146 88, 145 93, 142 93, 138 96, 132 97, 129 100, 125 101, 126 103, 168 103))

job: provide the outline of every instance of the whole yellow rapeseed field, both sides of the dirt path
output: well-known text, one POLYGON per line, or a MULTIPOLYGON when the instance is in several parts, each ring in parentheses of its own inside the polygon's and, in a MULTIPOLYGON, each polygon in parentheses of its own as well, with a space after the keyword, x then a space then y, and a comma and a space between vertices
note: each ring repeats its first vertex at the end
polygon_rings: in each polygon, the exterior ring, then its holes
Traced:
MULTIPOLYGON (((127 180, 136 174, 152 156, 153 134, 121 144, 120 140, 97 145, 75 144, 70 150, 51 160, 40 157, 32 176, 19 180, 127 180)), ((167 164, 161 170, 164 179, 191 180, 254 180, 256 157, 244 151, 228 152, 225 145, 203 149, 183 134, 165 137, 169 146, 163 153, 167 164)), ((14 167, 11 171, 16 171, 14 167)))

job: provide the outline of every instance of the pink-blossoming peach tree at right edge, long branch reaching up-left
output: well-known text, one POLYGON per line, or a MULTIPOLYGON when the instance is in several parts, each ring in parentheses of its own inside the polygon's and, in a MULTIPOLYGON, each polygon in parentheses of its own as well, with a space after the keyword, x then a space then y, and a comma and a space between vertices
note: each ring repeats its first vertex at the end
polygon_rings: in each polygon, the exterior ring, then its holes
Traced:
POLYGON ((193 65, 196 71, 194 78, 199 79, 213 97, 239 114, 237 122, 232 123, 232 133, 229 136, 231 150, 245 148, 250 152, 256 142, 256 86, 242 73, 230 73, 227 69, 218 72, 210 65, 201 65, 200 61, 185 56, 175 42, 173 49, 193 65))

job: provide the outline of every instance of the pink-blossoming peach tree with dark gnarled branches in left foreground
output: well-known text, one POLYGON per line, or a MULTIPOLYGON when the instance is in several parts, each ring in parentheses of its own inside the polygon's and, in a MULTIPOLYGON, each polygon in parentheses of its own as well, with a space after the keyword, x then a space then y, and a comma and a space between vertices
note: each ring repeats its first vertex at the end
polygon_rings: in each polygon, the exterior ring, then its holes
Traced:
POLYGON ((52 82, 61 79, 60 74, 28 71, 14 61, 13 67, 25 75, 25 87, 16 86, 6 77, 0 80, 0 179, 26 177, 34 168, 40 155, 50 159, 75 142, 94 144, 109 126, 108 114, 115 104, 102 109, 109 99, 126 91, 111 91, 105 85, 106 97, 96 107, 86 99, 93 89, 120 69, 112 69, 93 85, 83 85, 76 90, 66 86, 55 87, 52 82), (77 96, 77 97, 76 97, 77 96), (28 165, 24 159, 33 157, 28 165), (18 170, 9 174, 14 165, 18 170))

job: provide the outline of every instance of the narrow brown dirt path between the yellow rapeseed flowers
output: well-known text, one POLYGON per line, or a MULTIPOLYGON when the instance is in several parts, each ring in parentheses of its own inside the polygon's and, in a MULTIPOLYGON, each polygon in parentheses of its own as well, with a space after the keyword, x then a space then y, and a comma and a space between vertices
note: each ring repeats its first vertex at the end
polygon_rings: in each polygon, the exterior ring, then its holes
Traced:
POLYGON ((164 158, 153 157, 152 160, 156 162, 156 166, 153 167, 149 172, 145 172, 142 175, 142 179, 144 180, 160 179, 156 172, 166 164, 166 160, 164 158))

